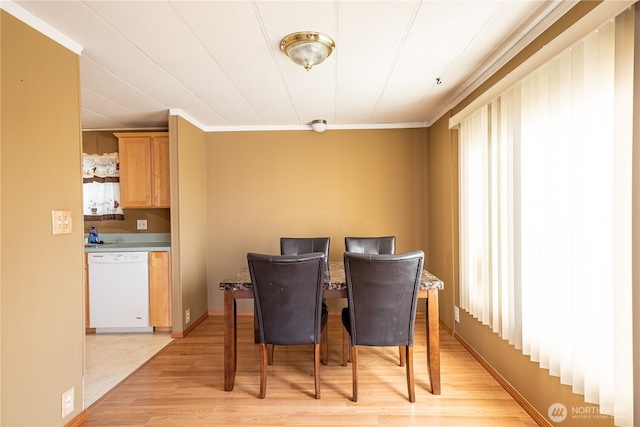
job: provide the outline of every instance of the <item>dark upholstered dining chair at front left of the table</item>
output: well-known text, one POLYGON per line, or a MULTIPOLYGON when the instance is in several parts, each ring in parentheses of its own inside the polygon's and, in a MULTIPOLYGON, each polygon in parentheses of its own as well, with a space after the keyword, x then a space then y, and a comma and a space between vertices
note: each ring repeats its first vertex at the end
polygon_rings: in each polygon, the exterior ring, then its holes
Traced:
POLYGON ((248 253, 260 342, 260 399, 267 390, 267 345, 313 344, 315 396, 320 399, 320 336, 324 254, 248 253))

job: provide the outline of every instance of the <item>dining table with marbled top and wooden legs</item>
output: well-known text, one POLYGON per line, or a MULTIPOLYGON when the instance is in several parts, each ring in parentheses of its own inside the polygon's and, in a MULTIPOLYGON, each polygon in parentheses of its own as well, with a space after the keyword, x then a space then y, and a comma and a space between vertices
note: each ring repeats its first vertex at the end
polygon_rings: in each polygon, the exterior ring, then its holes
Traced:
MULTIPOLYGON (((224 291, 224 389, 233 390, 238 363, 237 353, 237 308, 236 300, 253 298, 251 275, 244 267, 233 276, 220 282, 224 291)), ((424 298, 426 311, 427 365, 431 392, 440 394, 440 330, 438 311, 438 291, 444 289, 444 282, 422 270, 418 298, 424 298)), ((330 261, 325 272, 322 291, 323 298, 346 298, 347 283, 344 264, 330 261)), ((256 332, 257 334, 257 332, 256 332)), ((257 335, 256 335, 257 336, 257 335)))

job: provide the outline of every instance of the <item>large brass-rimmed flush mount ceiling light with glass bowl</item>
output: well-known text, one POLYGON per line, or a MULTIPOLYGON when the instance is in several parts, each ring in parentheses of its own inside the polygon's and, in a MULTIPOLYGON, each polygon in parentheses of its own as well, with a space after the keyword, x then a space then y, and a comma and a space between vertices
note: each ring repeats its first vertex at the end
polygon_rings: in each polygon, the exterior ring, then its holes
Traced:
POLYGON ((289 34, 280 42, 280 49, 307 71, 327 59, 335 47, 331 37, 314 31, 289 34))

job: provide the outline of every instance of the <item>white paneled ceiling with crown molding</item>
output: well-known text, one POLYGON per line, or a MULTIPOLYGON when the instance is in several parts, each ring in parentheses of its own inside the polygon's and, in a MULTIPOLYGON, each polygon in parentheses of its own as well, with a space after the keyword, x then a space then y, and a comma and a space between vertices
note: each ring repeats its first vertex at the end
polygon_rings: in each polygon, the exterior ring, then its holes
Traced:
POLYGON ((574 1, 2 0, 80 53, 84 129, 206 131, 423 127, 574 1), (280 51, 298 31, 336 50, 307 72, 280 51), (436 80, 440 79, 441 84, 436 80))

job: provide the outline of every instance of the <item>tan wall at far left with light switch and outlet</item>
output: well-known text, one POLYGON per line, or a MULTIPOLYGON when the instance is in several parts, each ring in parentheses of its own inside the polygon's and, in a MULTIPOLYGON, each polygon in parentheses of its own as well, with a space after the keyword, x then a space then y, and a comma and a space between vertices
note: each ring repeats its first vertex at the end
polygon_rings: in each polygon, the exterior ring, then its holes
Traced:
POLYGON ((0 19, 0 424, 60 426, 63 392, 75 388, 64 421, 82 409, 79 60, 5 11, 0 19), (52 209, 72 211, 72 234, 52 236, 52 209))

